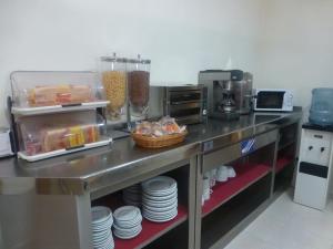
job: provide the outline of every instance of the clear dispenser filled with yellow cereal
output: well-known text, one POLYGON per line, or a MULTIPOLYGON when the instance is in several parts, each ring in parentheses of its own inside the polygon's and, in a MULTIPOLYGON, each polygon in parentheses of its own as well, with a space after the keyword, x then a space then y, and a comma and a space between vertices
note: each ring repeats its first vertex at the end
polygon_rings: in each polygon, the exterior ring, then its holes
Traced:
POLYGON ((119 121, 124 116, 127 103, 127 59, 113 56, 101 58, 101 81, 105 91, 107 116, 119 121))

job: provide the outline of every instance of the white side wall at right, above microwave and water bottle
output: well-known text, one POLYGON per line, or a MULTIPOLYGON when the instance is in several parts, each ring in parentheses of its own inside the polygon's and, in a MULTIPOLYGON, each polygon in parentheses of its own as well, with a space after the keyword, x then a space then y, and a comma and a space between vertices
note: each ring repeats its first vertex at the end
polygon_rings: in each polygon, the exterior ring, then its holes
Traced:
POLYGON ((293 89, 304 120, 311 90, 333 87, 332 10, 331 0, 266 1, 255 86, 293 89))

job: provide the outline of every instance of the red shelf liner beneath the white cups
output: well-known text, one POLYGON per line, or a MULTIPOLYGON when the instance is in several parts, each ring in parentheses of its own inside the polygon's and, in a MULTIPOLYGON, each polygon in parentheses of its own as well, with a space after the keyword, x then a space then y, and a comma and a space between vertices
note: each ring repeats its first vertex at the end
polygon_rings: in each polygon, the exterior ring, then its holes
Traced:
POLYGON ((266 165, 235 165, 233 168, 236 172, 236 177, 228 179, 225 183, 218 183, 213 187, 211 198, 204 201, 202 207, 202 215, 205 216, 213 211, 215 208, 225 203, 231 196, 239 193, 244 187, 254 183, 270 172, 266 165))

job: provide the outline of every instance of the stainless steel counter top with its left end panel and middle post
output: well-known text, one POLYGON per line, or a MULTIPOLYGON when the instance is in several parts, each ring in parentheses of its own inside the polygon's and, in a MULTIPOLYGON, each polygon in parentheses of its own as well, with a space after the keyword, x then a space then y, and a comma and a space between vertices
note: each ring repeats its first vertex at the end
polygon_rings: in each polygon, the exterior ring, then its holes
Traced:
POLYGON ((230 146, 233 147, 252 136, 259 139, 273 134, 276 141, 276 129, 299 122, 301 116, 301 110, 296 108, 292 113, 253 113, 233 122, 209 120, 206 124, 189 126, 189 136, 182 144, 162 149, 137 147, 129 137, 115 141, 110 147, 37 163, 2 159, 0 248, 91 249, 93 199, 108 197, 119 189, 173 169, 185 172, 182 176, 188 181, 184 188, 189 212, 188 248, 198 248, 198 231, 201 229, 198 221, 201 219, 198 212, 201 210, 201 194, 198 189, 202 181, 199 173, 202 157, 206 153, 216 154, 224 146, 234 144, 230 146))

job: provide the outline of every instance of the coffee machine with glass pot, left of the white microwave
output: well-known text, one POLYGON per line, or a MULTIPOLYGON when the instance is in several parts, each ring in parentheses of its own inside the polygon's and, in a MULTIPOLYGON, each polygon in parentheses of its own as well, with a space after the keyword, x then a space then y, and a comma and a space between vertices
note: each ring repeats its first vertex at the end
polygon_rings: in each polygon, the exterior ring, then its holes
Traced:
POLYGON ((238 120, 252 110, 252 74, 241 70, 200 71, 199 83, 208 87, 210 117, 238 120))

